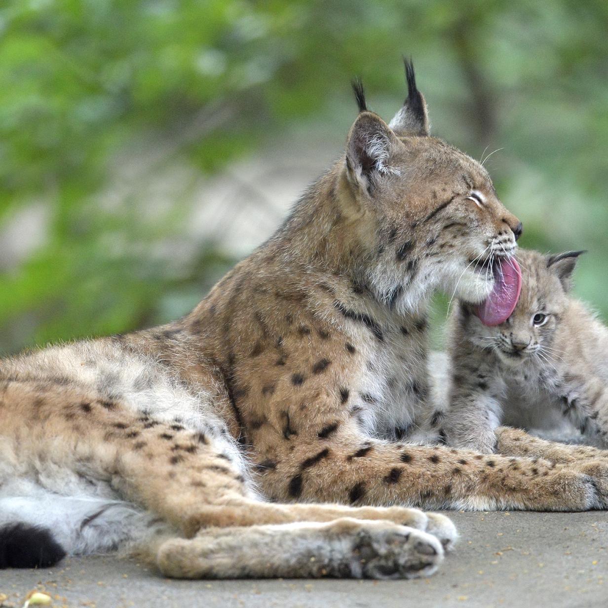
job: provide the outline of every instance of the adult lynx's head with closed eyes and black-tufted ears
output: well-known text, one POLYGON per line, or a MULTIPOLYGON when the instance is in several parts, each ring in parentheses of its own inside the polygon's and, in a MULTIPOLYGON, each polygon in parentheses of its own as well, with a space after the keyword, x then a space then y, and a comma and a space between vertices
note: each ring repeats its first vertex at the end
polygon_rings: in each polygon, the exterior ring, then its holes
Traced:
POLYGON ((348 136, 342 199, 365 220, 367 280, 398 308, 431 287, 482 302, 495 286, 492 264, 513 254, 522 224, 482 165, 429 136, 426 102, 411 61, 405 64, 407 98, 389 124, 368 111, 361 83, 353 85, 359 116, 348 136))

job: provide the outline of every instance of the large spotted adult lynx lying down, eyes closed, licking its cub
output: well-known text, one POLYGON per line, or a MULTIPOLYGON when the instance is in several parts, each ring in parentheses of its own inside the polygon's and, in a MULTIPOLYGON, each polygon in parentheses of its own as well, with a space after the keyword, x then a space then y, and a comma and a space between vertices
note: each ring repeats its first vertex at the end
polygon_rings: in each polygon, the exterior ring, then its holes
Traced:
POLYGON ((392 128, 361 111, 345 156, 184 319, 1 362, 1 518, 69 553, 137 542, 169 576, 400 578, 455 539, 406 506, 603 504, 548 460, 411 443, 434 418, 427 302, 482 300, 519 221, 428 136, 411 66, 408 84, 392 128))

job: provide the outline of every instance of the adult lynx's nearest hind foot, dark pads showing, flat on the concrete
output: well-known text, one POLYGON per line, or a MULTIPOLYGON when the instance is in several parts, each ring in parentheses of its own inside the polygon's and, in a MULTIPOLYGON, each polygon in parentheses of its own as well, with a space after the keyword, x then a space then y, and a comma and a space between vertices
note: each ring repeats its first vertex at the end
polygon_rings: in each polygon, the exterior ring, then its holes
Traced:
POLYGON ((174 578, 396 579, 431 575, 442 559, 443 547, 432 534, 344 517, 207 528, 193 539, 165 542, 157 565, 174 578))

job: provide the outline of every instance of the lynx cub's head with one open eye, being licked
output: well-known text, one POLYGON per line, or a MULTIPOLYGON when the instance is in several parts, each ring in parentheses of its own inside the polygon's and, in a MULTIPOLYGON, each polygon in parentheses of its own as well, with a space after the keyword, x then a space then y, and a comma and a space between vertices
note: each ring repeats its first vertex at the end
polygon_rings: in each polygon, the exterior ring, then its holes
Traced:
POLYGON ((471 342, 492 349, 507 365, 539 362, 550 358, 561 315, 568 304, 572 272, 582 251, 542 255, 519 250, 522 291, 511 316, 500 325, 487 327, 472 306, 460 305, 460 323, 471 342))

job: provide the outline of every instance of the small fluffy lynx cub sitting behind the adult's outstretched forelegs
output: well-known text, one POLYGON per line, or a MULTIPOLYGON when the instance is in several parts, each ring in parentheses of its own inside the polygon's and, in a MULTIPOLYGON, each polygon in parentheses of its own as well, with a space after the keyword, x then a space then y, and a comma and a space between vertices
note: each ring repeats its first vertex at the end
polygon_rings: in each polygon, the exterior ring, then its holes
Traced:
POLYGON ((526 409, 561 412, 590 443, 608 444, 608 330, 568 294, 581 251, 519 250, 522 290, 513 314, 483 325, 475 307, 452 317, 448 443, 493 452, 494 429, 526 409))

